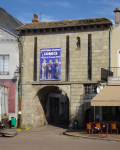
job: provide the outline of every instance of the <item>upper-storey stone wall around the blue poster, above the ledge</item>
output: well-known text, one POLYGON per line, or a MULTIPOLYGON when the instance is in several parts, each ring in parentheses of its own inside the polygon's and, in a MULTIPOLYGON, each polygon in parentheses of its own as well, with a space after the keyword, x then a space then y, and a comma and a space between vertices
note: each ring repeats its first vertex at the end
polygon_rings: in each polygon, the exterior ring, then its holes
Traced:
MULTIPOLYGON (((37 37, 37 81, 40 75, 40 49, 61 48, 61 81, 65 81, 66 36, 70 44, 70 82, 88 81, 88 34, 92 35, 92 81, 101 79, 101 68, 109 66, 109 31, 86 31, 27 35, 23 37, 23 82, 33 81, 34 37, 37 37), (76 49, 76 37, 81 47, 76 49)), ((60 81, 60 82, 61 82, 60 81)))

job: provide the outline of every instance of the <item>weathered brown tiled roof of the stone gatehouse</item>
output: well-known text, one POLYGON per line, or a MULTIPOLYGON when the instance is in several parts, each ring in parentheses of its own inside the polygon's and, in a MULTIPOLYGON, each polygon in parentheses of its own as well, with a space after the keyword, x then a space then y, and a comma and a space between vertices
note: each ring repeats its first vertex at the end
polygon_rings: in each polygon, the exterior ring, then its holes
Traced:
POLYGON ((21 27, 18 27, 17 30, 72 27, 80 25, 105 24, 105 23, 111 24, 111 21, 108 18, 91 18, 91 19, 63 20, 53 22, 32 22, 26 23, 21 27))

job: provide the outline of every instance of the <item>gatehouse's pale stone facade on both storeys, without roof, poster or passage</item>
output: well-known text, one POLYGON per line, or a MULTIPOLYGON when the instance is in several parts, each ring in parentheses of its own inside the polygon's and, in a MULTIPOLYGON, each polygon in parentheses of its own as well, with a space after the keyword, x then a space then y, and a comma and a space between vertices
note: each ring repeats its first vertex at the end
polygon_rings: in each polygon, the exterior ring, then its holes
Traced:
POLYGON ((37 127, 46 124, 45 113, 40 98, 45 100, 47 92, 41 97, 39 91, 48 86, 59 87, 69 98, 69 118, 72 125, 78 119, 84 126, 84 84, 101 80, 101 68, 109 67, 109 26, 103 28, 80 28, 79 30, 61 30, 42 33, 25 32, 23 43, 23 81, 22 81, 22 127, 37 127), (88 80, 88 34, 92 37, 92 80, 88 80), (66 75, 66 36, 69 35, 69 82, 66 75), (76 37, 80 37, 80 49, 76 47, 76 37), (37 37, 37 81, 33 82, 34 37, 37 37), (61 80, 39 81, 40 49, 61 48, 61 80))

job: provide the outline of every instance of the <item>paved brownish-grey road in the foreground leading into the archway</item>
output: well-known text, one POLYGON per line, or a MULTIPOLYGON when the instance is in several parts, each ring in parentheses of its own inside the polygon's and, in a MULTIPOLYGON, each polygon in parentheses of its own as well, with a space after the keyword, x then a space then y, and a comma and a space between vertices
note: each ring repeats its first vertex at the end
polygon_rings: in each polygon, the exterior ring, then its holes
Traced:
POLYGON ((62 135, 65 128, 46 125, 21 131, 12 138, 0 137, 0 150, 120 150, 120 142, 62 135))

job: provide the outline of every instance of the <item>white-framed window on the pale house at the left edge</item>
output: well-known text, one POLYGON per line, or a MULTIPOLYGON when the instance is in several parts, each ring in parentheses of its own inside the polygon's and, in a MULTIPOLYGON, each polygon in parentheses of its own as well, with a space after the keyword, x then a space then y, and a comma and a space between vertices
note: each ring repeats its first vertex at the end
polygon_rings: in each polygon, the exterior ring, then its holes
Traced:
POLYGON ((9 55, 0 55, 0 75, 9 75, 9 55))

